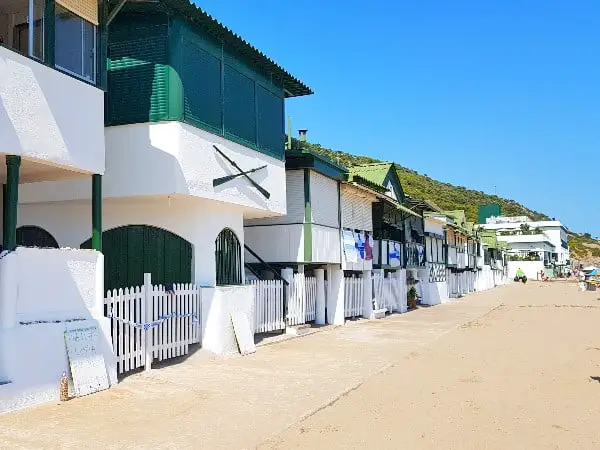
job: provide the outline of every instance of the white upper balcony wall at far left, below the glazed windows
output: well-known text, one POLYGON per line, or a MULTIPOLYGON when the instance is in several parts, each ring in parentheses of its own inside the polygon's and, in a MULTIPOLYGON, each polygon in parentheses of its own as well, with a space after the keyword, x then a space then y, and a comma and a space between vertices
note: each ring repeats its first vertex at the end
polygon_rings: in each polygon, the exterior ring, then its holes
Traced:
POLYGON ((0 47, 0 153, 104 173, 104 93, 0 47))

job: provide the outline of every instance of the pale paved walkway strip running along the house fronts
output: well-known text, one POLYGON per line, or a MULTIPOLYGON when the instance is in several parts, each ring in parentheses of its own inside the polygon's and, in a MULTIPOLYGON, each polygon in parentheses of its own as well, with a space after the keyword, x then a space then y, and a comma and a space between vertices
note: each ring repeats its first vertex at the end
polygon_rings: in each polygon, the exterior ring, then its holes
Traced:
MULTIPOLYGON (((542 290, 533 284, 525 289, 542 290)), ((366 381, 382 398, 394 389, 392 374, 409 385, 402 369, 407 362, 519 292, 520 285, 509 285, 471 294, 265 346, 246 357, 197 352, 100 394, 0 416, 0 442, 29 449, 285 448, 287 438, 303 446, 294 428, 300 421, 332 410, 366 381)), ((404 426, 410 427, 406 417, 389 422, 390 429, 404 426)), ((335 445, 334 439, 326 446, 335 445)))

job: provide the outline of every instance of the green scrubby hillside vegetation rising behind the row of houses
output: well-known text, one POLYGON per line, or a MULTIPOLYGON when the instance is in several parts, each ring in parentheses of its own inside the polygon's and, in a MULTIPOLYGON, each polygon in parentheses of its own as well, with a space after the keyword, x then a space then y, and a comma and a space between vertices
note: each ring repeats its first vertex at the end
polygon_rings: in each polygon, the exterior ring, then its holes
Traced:
MULTIPOLYGON (((294 145, 321 154, 345 167, 381 162, 368 156, 351 155, 310 142, 301 143, 294 140, 294 145)), ((398 163, 396 165, 398 166, 398 175, 400 176, 402 187, 407 195, 423 200, 431 200, 443 210, 462 209, 466 213, 467 220, 471 222, 477 222, 478 205, 491 204, 500 205, 502 213, 507 216, 528 216, 533 220, 551 219, 546 214, 529 209, 515 200, 468 189, 465 186, 444 183, 398 163)), ((593 239, 589 234, 570 232, 569 245, 572 259, 600 264, 600 241, 593 239)))

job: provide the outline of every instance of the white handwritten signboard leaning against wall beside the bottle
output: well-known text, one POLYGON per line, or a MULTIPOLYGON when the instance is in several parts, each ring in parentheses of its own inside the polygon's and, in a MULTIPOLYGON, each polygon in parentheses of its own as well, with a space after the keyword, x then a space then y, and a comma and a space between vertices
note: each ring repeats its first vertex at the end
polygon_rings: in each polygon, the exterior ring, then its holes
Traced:
POLYGON ((77 397, 109 387, 99 341, 100 331, 96 326, 65 331, 67 357, 77 397))

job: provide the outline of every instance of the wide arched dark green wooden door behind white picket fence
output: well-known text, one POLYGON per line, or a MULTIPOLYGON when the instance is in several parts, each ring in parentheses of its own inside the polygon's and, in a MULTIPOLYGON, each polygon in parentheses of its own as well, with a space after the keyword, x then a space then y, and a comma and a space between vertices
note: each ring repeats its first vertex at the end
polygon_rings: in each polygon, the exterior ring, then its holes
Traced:
MULTIPOLYGON (((91 248, 91 239, 81 248, 91 248)), ((161 228, 127 225, 102 233, 104 289, 144 284, 144 273, 152 284, 190 283, 192 244, 161 228)))

